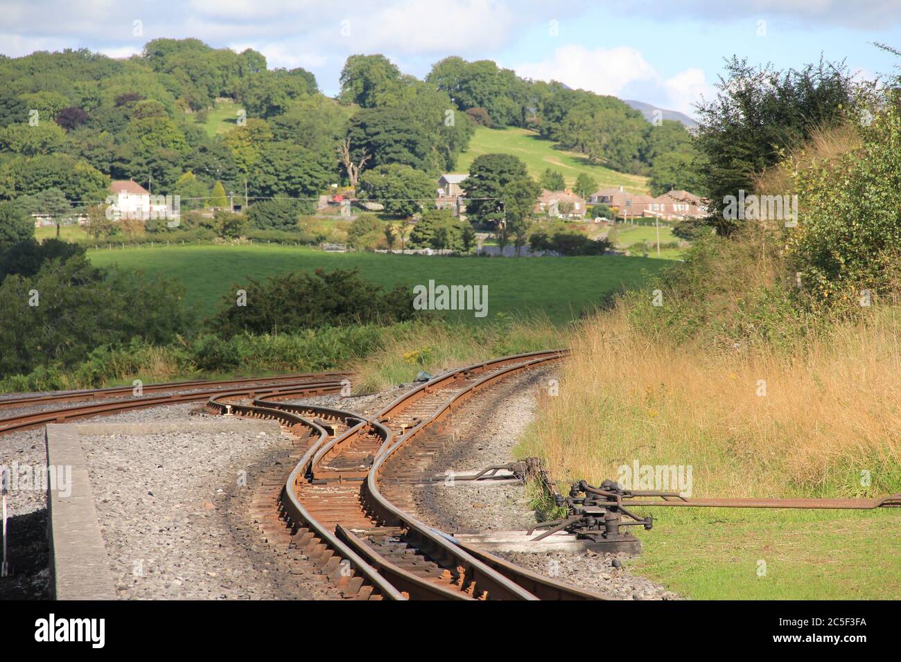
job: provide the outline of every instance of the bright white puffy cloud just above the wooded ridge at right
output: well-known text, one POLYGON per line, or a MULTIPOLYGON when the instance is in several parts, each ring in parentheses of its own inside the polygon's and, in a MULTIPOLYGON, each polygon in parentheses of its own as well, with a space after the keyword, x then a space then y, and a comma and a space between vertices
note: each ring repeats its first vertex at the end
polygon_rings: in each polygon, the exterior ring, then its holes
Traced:
POLYGON ((523 77, 557 80, 599 95, 639 98, 687 114, 694 113, 693 104, 701 95, 713 92, 703 69, 687 68, 663 78, 640 50, 627 46, 587 49, 569 44, 554 51, 549 60, 514 68, 523 77))

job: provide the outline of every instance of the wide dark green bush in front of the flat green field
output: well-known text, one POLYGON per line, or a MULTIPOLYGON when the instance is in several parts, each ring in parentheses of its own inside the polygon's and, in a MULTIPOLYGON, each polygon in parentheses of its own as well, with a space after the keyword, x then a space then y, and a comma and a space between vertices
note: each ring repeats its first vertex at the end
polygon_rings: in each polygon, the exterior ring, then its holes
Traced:
POLYGON ((410 289, 397 286, 384 292, 357 276, 356 269, 316 269, 269 277, 265 283, 250 279, 232 286, 223 305, 209 321, 212 331, 225 338, 250 333, 295 332, 343 324, 372 324, 413 317, 410 289), (238 290, 245 305, 237 305, 238 290))

